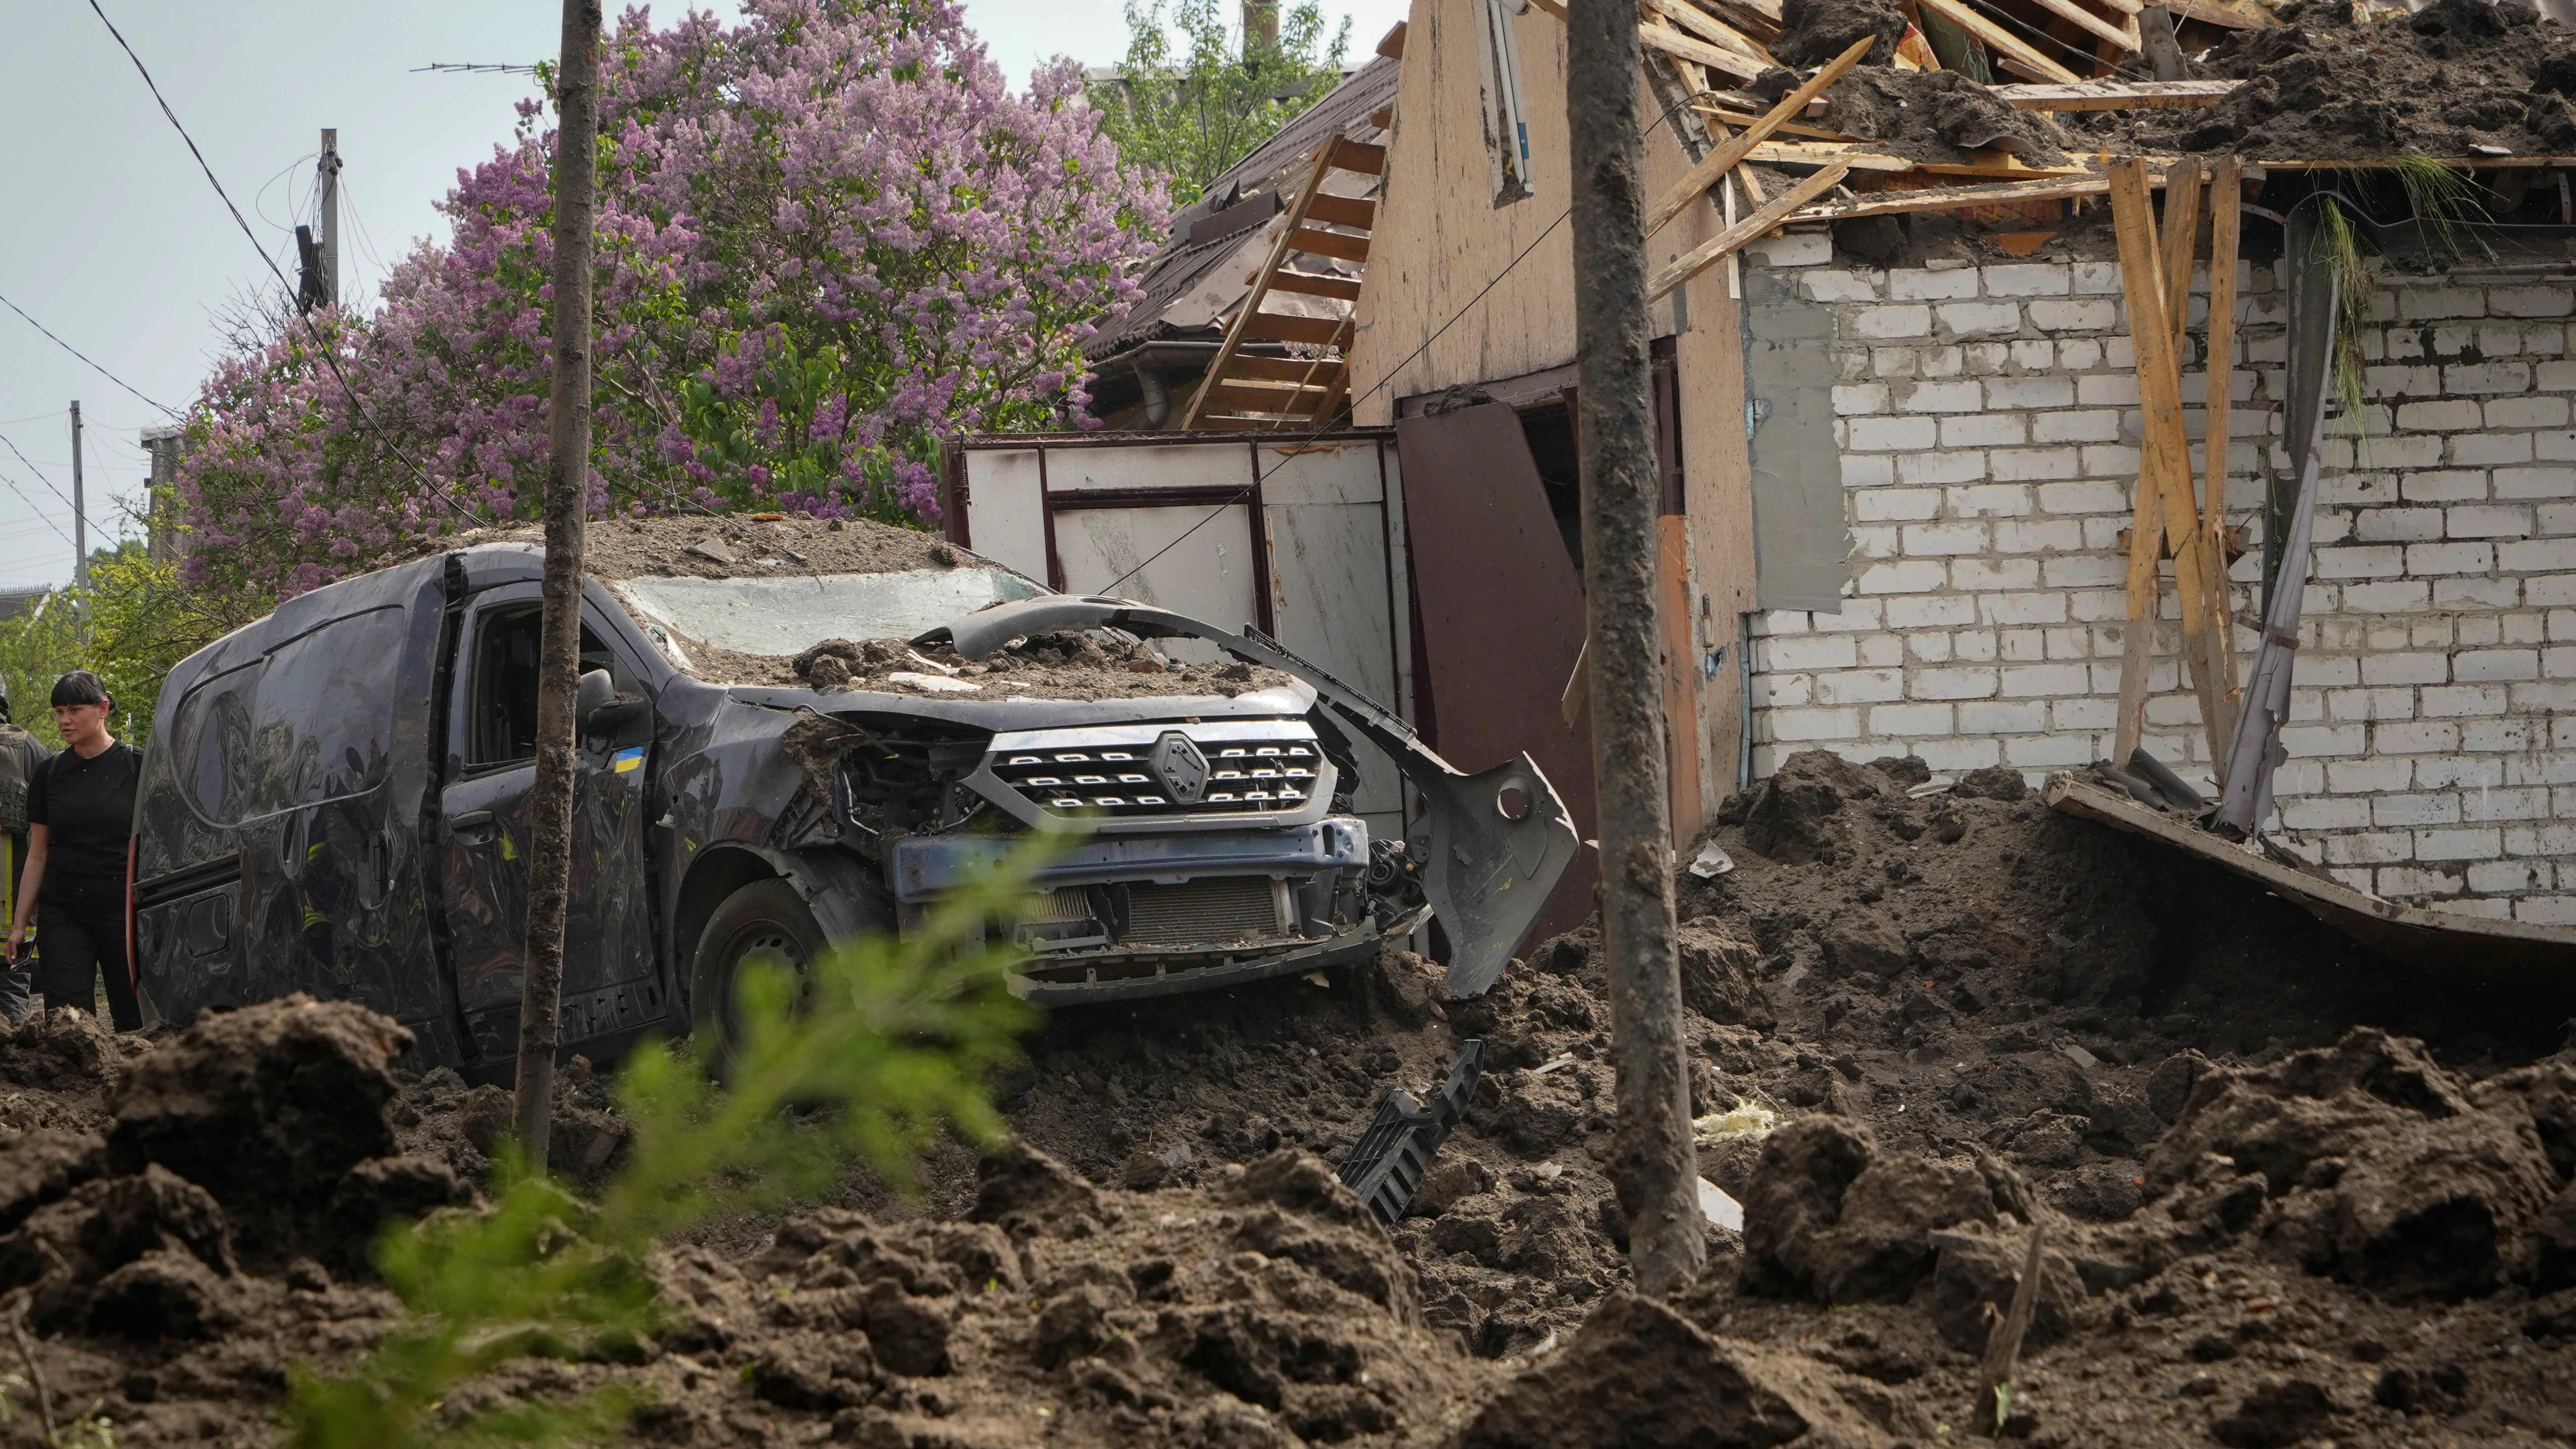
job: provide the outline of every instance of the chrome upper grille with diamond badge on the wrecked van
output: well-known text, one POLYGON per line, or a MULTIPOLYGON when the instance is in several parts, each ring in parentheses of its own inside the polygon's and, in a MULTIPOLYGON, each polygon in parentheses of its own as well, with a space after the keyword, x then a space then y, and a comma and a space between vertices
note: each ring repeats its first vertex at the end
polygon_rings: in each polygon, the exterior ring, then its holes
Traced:
POLYGON ((1025 731, 997 736, 984 762, 1041 811, 1110 821, 1293 816, 1332 793, 1306 721, 1025 731))

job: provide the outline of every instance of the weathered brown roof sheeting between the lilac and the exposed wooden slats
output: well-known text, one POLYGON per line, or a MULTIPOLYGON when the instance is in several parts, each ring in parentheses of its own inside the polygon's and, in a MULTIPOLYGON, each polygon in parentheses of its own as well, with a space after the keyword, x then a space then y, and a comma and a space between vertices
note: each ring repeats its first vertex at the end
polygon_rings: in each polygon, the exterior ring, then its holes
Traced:
MULTIPOLYGON (((1394 59, 1373 57, 1358 75, 1334 85, 1321 100, 1301 111, 1296 121, 1280 126, 1275 136, 1211 180, 1208 190, 1200 193, 1188 211, 1172 219, 1172 239, 1164 242, 1162 252, 1157 252, 1151 263, 1146 263, 1141 278, 1144 296, 1139 296, 1123 314, 1103 322, 1100 332, 1082 345, 1082 355, 1097 363, 1126 353, 1139 342, 1159 342, 1170 337, 1218 340, 1224 327, 1175 327, 1164 319, 1164 314, 1172 311, 1172 304, 1185 299, 1200 278, 1208 278, 1208 273, 1231 257, 1247 237, 1267 226, 1278 211, 1255 208, 1257 216, 1249 216, 1244 226, 1200 237, 1195 242, 1190 239, 1190 229, 1255 193, 1275 193, 1280 185, 1298 185, 1309 160, 1314 157, 1314 144, 1332 131, 1340 131, 1352 142, 1381 142, 1383 131, 1370 124, 1370 116, 1396 100, 1396 69, 1399 64, 1394 59)), ((1239 278, 1234 278, 1229 291, 1239 296, 1247 288, 1239 278)))

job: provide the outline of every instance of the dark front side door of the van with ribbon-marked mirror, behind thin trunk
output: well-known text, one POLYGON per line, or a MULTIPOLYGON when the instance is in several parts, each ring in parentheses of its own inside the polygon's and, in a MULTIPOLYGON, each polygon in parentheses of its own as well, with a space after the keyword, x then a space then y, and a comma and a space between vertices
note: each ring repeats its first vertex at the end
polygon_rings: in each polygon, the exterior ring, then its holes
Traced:
MULTIPOLYGON (((489 589, 456 636, 440 790, 440 885, 456 1004, 484 1063, 518 1053, 536 785, 536 587, 489 589)), ((608 669, 641 692, 585 613, 582 669, 608 669)), ((652 896, 644 854, 644 782, 652 744, 590 741, 574 752, 572 891, 564 911, 562 1042, 639 1027, 662 1014, 654 986, 652 896)))

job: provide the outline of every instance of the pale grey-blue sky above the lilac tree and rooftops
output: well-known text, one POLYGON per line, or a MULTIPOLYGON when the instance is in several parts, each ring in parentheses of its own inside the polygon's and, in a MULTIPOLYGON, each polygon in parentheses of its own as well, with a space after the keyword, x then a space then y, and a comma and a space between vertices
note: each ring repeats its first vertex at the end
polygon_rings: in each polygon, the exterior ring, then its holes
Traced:
MULTIPOLYGON (((149 461, 137 430, 185 409, 222 317, 294 275, 312 219, 319 129, 340 131, 345 296, 374 299, 386 265, 443 237, 435 203, 492 154, 531 93, 520 75, 435 75, 433 62, 551 57, 551 0, 322 5, 314 0, 95 0, 160 82, 224 201, 162 118, 90 0, 13 0, 0 21, 0 299, 77 347, 100 376, 0 306, 0 589, 72 577, 70 401, 85 422, 90 546, 137 535, 149 461), (131 389, 131 391, 129 391, 131 389), (139 396, 137 396, 139 394, 139 396), (160 407, 155 407, 160 404, 160 407)), ((719 0, 732 13, 732 0, 719 0)), ((1404 0, 1321 0, 1368 57, 1404 0)), ((665 5, 665 13, 675 13, 665 5)), ((1126 54, 1121 0, 966 0, 994 62, 1025 82, 1056 54, 1126 54)))

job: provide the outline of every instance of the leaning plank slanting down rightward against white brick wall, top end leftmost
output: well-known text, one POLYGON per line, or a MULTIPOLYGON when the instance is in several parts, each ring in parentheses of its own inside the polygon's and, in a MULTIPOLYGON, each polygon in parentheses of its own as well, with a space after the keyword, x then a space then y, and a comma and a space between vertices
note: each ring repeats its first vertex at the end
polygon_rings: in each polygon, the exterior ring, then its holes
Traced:
MULTIPOLYGON (((2182 432, 2182 373, 2174 360, 2174 332, 2164 319, 2164 293, 2156 286, 2156 234, 2146 203, 2146 165, 2128 160, 2110 170, 2115 232, 2120 237, 2120 283, 2128 291, 2128 335, 2138 355, 2138 401, 2143 409, 2141 489, 2154 479, 2164 520, 2174 525, 2174 595, 2182 605, 2182 661, 2200 692, 2200 718, 2218 721, 2215 679, 2208 672, 2210 613, 2210 535, 2197 528, 2192 499, 2192 445, 2182 432), (2117 221, 2117 211, 2128 221, 2117 221)), ((2184 252, 2190 255, 2190 252, 2184 252)), ((2133 540, 2138 543, 2138 540, 2133 540)))

